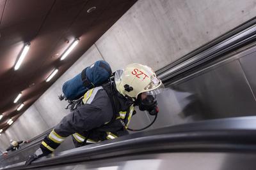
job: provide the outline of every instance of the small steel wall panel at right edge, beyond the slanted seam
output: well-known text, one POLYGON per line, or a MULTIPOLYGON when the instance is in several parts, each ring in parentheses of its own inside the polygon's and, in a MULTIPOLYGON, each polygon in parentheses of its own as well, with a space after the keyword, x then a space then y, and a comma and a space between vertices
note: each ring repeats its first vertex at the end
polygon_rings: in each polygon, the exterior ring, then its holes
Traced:
POLYGON ((241 66, 244 70, 254 96, 256 95, 256 52, 250 53, 240 59, 241 66))

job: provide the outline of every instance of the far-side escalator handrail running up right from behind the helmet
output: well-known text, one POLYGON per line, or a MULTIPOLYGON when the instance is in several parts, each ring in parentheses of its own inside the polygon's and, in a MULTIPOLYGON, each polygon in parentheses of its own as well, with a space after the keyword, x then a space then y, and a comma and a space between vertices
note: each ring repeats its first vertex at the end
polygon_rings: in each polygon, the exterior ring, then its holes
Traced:
POLYGON ((209 60, 217 59, 223 53, 236 50, 250 43, 256 39, 255 33, 256 17, 159 69, 156 74, 163 82, 170 81, 209 60))

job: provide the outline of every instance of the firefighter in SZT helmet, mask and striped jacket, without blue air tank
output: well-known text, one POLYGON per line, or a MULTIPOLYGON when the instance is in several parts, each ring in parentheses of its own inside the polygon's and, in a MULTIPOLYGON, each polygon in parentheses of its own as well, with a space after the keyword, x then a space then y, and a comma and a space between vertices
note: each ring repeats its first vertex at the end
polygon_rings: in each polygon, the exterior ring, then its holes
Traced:
POLYGON ((79 106, 45 136, 26 165, 54 152, 69 135, 79 147, 128 134, 127 125, 134 114, 134 106, 143 111, 158 111, 156 94, 162 87, 163 83, 148 66, 134 63, 116 71, 115 81, 84 94, 79 106))

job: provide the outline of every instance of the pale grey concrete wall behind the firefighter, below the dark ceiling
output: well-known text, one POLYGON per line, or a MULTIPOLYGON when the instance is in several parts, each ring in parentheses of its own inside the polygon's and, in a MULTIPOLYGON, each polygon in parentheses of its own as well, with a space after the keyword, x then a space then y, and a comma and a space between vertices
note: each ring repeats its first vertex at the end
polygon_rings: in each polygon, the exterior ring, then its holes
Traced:
MULTIPOLYGON (((131 62, 160 69, 255 15, 256 0, 139 0, 0 136, 0 149, 60 122, 68 113, 58 101, 61 85, 95 60, 108 61, 113 70, 131 62)), ((134 126, 150 120, 136 117, 134 126)))

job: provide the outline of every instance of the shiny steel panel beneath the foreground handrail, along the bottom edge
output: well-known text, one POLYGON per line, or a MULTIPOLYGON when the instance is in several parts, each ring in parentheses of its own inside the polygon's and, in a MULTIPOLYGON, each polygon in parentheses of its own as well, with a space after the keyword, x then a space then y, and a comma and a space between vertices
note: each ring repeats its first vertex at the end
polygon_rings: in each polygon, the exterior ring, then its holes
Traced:
POLYGON ((156 153, 154 155, 137 155, 114 159, 95 160, 83 164, 66 167, 42 167, 41 170, 129 170, 129 169, 208 169, 208 170, 240 170, 255 169, 256 155, 250 153, 156 153))

